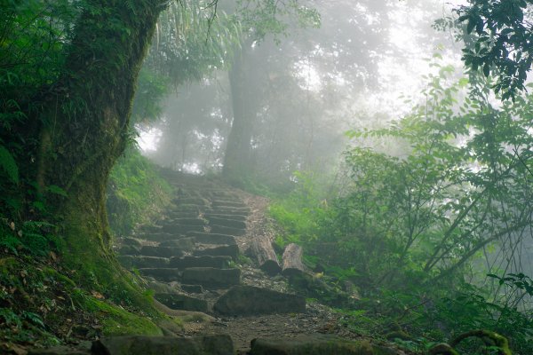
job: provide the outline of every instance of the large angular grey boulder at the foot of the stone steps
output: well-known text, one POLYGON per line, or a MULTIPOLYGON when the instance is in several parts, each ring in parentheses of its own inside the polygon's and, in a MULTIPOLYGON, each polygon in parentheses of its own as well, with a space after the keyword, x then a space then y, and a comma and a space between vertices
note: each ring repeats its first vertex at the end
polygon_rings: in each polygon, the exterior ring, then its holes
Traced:
POLYGON ((224 315, 306 312, 306 299, 267 288, 235 286, 220 296, 214 311, 224 315))

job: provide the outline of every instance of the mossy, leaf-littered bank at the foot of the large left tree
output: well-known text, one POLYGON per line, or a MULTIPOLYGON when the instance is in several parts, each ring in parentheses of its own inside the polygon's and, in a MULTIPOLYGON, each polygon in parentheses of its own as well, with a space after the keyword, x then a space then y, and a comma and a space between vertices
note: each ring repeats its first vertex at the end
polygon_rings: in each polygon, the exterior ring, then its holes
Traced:
POLYGON ((169 325, 180 323, 152 307, 128 307, 80 288, 52 258, 0 255, 0 353, 101 335, 163 335, 160 326, 169 325))

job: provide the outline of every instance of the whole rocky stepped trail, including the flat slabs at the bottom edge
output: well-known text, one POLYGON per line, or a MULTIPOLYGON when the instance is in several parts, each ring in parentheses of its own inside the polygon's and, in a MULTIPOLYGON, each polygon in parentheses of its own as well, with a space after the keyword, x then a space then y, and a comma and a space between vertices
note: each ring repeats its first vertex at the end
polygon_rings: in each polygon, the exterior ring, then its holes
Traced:
POLYGON ((254 239, 270 244, 274 237, 265 216, 266 199, 207 177, 164 174, 176 186, 171 206, 153 225, 142 225, 131 237, 119 239, 116 248, 123 266, 139 272, 147 288, 155 291, 155 300, 191 321, 180 334, 102 339, 86 351, 402 354, 339 326, 337 313, 306 302, 285 276, 267 274, 258 260, 246 256, 254 239))

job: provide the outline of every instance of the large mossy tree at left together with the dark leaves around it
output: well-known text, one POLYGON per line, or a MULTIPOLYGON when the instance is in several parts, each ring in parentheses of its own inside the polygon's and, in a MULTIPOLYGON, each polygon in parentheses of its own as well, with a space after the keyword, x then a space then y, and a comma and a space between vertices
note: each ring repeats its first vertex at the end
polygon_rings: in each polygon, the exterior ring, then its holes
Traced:
MULTIPOLYGON (((50 40, 64 53, 59 56, 64 61, 56 63, 56 77, 40 83, 26 101, 17 98, 17 91, 28 82, 5 92, 4 98, 19 100, 16 106, 21 113, 19 120, 4 124, 6 129, 0 133, 0 142, 7 146, 20 175, 19 185, 12 186, 20 193, 20 203, 12 206, 21 220, 50 218, 60 226, 64 260, 81 271, 79 280, 96 284, 120 280, 110 252, 107 177, 128 141, 135 83, 159 13, 167 4, 164 0, 73 3, 79 12, 68 19, 71 22, 56 25, 73 28, 68 43, 61 35, 50 40), (36 199, 46 199, 46 208, 36 204, 36 199)), ((9 9, 12 19, 28 15, 28 23, 33 19, 36 28, 43 20, 52 22, 56 15, 52 12, 42 19, 38 12, 31 13, 36 9, 20 12, 22 5, 9 9)), ((49 39, 40 36, 35 34, 37 42, 49 39)), ((4 38, 3 46, 10 39, 4 38)), ((3 78, 9 79, 10 70, 13 73, 24 65, 23 60, 2 62, 3 78)))

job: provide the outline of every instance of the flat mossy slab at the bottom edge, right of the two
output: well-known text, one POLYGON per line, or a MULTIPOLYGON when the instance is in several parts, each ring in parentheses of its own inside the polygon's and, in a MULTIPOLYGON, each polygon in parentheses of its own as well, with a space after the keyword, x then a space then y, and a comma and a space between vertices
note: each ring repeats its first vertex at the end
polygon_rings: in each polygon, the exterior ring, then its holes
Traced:
POLYGON ((350 341, 333 335, 298 335, 293 338, 258 338, 251 341, 250 355, 395 355, 394 349, 370 342, 350 341))

